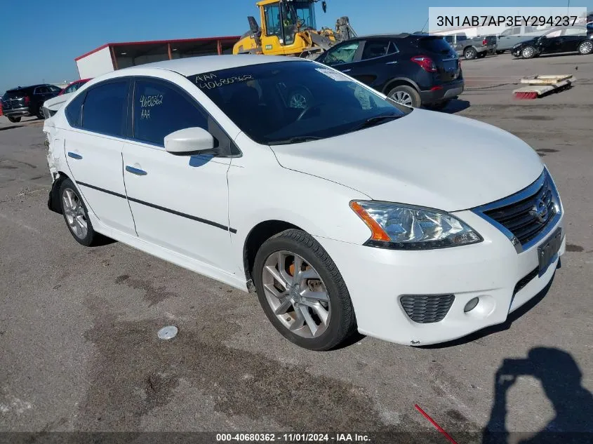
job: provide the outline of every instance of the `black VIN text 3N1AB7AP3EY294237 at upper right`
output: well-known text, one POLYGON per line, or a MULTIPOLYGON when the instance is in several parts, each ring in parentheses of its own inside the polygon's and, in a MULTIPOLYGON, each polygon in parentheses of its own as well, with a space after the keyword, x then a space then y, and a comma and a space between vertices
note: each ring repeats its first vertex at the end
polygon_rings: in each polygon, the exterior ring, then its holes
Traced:
POLYGON ((576 15, 439 15, 437 26, 575 26, 576 15))

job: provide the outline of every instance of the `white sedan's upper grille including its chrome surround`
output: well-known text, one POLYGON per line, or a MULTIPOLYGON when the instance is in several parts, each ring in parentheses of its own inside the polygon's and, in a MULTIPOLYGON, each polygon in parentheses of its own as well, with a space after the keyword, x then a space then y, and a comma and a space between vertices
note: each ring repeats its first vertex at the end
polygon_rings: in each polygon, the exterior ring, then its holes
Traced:
POLYGON ((562 217, 562 206, 554 180, 552 180, 552 176, 549 175, 547 169, 544 168, 540 177, 528 187, 498 201, 473 208, 472 212, 502 231, 509 241, 512 242, 517 253, 522 253, 533 247, 542 238, 545 238, 556 227, 562 217), (524 214, 521 219, 514 221, 513 227, 510 229, 505 227, 504 222, 512 220, 513 217, 521 213, 525 213, 528 208, 531 208, 536 199, 542 199, 548 208, 549 217, 547 217, 544 223, 538 224, 534 217, 531 217, 530 220, 524 214), (519 205, 517 206, 517 204, 519 205), (513 208, 514 206, 517 207, 513 208), (498 215, 496 215, 497 210, 500 210, 500 214, 498 215), (493 216, 498 217, 498 220, 493 216), (502 223, 499 220, 502 220, 502 223), (527 233, 525 230, 527 230, 527 233), (520 237, 526 238, 524 242, 520 241, 517 231, 521 233, 520 237), (525 236, 526 234, 528 236, 525 236))

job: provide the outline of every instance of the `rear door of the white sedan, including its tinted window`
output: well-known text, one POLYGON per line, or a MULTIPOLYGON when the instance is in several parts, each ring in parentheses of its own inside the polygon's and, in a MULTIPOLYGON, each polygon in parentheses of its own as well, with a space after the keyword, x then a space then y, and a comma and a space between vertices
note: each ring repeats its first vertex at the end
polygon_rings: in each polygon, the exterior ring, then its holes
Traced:
POLYGON ((65 136, 64 149, 89 209, 107 227, 135 236, 121 161, 129 83, 98 83, 69 103, 66 116, 73 128, 65 136))

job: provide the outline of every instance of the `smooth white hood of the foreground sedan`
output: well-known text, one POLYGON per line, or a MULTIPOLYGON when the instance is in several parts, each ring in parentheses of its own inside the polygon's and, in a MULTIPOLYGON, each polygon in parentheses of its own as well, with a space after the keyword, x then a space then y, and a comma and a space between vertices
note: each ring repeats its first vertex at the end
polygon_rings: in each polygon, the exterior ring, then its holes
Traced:
POLYGON ((514 194, 543 169, 528 144, 500 128, 422 109, 354 133, 271 148, 284 168, 374 200, 446 211, 514 194))

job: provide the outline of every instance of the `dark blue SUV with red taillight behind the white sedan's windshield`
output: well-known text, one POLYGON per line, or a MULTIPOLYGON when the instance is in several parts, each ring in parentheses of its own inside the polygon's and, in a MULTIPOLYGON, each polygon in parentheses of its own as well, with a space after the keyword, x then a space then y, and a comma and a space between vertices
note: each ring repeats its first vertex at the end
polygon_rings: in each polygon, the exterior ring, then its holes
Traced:
POLYGON ((339 43, 317 61, 411 107, 444 107, 464 88, 458 55, 442 36, 364 36, 339 43))

